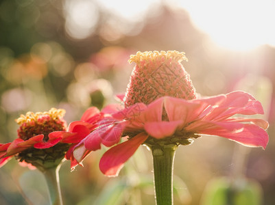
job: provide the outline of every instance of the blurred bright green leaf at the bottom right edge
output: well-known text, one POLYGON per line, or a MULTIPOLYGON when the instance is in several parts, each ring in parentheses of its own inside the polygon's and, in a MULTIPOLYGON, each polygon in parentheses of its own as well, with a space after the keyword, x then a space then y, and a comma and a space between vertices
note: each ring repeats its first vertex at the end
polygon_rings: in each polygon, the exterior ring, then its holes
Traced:
POLYGON ((261 185, 254 180, 239 179, 234 184, 228 178, 215 178, 206 186, 202 205, 260 205, 261 185))

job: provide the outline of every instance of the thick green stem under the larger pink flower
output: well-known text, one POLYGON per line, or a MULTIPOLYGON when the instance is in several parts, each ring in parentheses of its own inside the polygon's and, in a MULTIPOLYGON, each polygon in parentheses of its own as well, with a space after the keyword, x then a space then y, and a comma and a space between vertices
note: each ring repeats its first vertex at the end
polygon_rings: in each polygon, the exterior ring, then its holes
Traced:
POLYGON ((176 147, 152 147, 157 205, 173 204, 173 167, 176 147))

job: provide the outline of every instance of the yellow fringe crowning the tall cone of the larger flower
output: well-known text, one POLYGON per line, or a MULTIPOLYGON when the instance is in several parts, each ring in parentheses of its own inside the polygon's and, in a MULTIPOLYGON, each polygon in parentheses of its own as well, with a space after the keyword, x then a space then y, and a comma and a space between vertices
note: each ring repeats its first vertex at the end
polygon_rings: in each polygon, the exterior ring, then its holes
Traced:
POLYGON ((187 57, 185 56, 184 52, 178 51, 145 51, 141 52, 138 51, 136 55, 130 55, 130 59, 128 62, 131 64, 132 62, 139 64, 141 61, 151 60, 151 61, 158 61, 164 57, 165 60, 167 59, 174 59, 178 62, 185 60, 188 61, 187 57))

